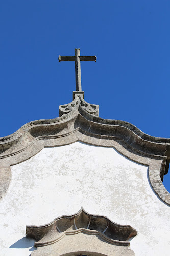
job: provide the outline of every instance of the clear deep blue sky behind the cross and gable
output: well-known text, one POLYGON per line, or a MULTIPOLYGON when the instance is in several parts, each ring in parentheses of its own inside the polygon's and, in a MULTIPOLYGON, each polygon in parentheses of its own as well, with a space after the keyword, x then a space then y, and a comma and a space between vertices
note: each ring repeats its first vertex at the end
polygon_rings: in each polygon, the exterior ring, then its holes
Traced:
MULTIPOLYGON (((72 100, 73 62, 58 55, 96 55, 83 62, 85 100, 100 117, 120 119, 170 137, 169 0, 2 0, 1 129, 58 116, 72 100)), ((170 191, 170 173, 165 176, 170 191)))

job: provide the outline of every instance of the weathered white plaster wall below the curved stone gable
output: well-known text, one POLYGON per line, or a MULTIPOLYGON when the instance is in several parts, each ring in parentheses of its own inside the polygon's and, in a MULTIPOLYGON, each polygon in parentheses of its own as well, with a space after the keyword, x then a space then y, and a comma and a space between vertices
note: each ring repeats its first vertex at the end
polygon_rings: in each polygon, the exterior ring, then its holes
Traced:
POLYGON ((44 148, 11 170, 0 201, 0 255, 30 255, 34 240, 25 238, 26 225, 44 225, 81 206, 135 228, 136 256, 170 254, 170 209, 150 187, 148 167, 114 148, 80 142, 44 148))

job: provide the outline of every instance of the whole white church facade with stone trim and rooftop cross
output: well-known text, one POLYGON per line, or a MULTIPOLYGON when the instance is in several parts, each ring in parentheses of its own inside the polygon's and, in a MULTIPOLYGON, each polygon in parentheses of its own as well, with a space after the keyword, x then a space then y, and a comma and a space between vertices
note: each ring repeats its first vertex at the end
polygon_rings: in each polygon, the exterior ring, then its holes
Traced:
POLYGON ((0 140, 1 255, 169 255, 169 139, 99 117, 75 61, 73 101, 59 117, 0 140))

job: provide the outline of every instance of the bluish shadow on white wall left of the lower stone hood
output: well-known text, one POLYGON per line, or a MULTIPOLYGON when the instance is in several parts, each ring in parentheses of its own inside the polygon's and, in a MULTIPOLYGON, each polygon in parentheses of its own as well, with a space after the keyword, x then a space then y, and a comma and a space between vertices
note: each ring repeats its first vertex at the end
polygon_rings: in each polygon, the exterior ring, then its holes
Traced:
POLYGON ((35 240, 28 237, 23 237, 16 241, 14 244, 12 244, 9 248, 15 248, 15 249, 22 249, 22 248, 30 248, 29 251, 37 250, 37 248, 34 247, 35 240))

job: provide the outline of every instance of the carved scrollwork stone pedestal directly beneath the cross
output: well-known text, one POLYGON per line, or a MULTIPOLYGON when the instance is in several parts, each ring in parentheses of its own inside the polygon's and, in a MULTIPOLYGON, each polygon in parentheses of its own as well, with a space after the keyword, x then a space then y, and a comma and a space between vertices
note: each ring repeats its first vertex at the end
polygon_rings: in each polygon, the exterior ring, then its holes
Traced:
POLYGON ((74 111, 81 107, 87 113, 94 115, 96 117, 99 116, 99 105, 89 104, 84 100, 84 92, 74 92, 74 100, 66 105, 59 106, 59 116, 63 114, 68 114, 71 111, 74 111))

